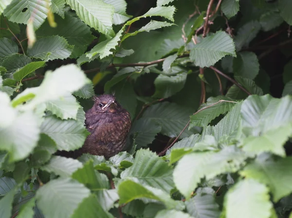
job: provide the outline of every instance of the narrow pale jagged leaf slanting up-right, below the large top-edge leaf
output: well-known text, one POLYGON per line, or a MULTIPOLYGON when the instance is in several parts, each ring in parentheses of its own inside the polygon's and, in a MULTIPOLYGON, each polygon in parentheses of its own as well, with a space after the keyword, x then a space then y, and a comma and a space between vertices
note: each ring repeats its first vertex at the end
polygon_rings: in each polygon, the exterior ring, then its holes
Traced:
POLYGON ((93 56, 99 54, 100 59, 102 59, 112 54, 112 50, 118 45, 123 32, 124 28, 122 28, 113 38, 98 43, 86 53, 86 57, 91 59, 93 56))

